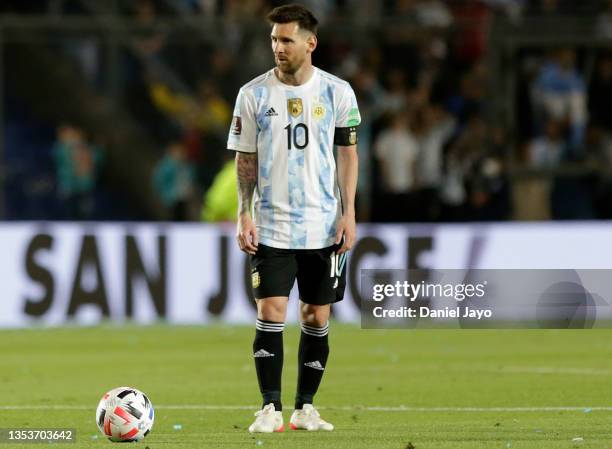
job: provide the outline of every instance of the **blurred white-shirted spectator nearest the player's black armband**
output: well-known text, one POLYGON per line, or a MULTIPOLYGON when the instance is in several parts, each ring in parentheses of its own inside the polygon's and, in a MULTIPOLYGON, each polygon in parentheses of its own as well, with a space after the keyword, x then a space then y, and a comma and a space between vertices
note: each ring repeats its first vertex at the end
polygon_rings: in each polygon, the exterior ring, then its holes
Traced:
POLYGON ((391 124, 379 134, 374 151, 382 183, 381 201, 376 201, 375 215, 381 221, 411 221, 417 216, 414 192, 418 142, 409 128, 405 111, 395 113, 391 124))

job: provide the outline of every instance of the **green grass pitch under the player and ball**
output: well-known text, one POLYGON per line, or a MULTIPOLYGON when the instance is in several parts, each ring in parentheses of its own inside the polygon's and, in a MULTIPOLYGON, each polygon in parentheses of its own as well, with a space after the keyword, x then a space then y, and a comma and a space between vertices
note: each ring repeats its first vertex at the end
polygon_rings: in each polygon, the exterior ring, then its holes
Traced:
MULTIPOLYGON (((317 396, 331 433, 250 435, 259 404, 252 327, 115 327, 0 332, 0 428, 72 427, 114 447, 95 407, 129 385, 151 398, 164 448, 612 448, 612 330, 362 330, 332 323, 317 396), (252 407, 251 407, 252 406, 252 407), (574 440, 580 438, 582 440, 574 440)), ((285 422, 298 329, 285 332, 285 422)), ((0 449, 49 444, 0 443, 0 449)))

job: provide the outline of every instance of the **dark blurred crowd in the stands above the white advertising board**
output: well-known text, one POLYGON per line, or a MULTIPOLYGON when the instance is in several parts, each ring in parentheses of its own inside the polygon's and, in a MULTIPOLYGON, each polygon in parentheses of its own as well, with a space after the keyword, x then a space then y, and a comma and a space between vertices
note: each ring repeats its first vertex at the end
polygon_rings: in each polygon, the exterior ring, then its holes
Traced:
MULTIPOLYGON (((0 218, 228 221, 269 0, 3 0, 0 218)), ((612 217, 612 1, 310 0, 363 123, 358 219, 612 217)))

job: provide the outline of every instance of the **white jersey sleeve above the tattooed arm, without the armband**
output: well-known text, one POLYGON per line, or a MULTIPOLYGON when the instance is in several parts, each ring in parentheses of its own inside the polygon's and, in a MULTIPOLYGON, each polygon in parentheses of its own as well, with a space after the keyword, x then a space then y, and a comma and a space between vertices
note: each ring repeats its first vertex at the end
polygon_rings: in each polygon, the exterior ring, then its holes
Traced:
POLYGON ((234 106, 234 117, 227 138, 227 149, 241 151, 243 153, 255 153, 257 151, 257 121, 255 118, 255 102, 252 95, 240 90, 236 105, 234 106))

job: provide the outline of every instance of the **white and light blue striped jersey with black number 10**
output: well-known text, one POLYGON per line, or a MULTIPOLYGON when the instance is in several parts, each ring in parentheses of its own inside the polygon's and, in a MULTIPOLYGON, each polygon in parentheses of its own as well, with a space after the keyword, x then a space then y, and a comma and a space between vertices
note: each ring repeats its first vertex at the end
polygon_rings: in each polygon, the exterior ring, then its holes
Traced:
POLYGON ((259 241, 274 248, 331 246, 342 214, 334 131, 361 117, 351 86, 313 69, 300 86, 272 69, 240 89, 234 108, 227 147, 257 152, 254 218, 259 241))

